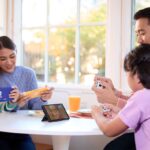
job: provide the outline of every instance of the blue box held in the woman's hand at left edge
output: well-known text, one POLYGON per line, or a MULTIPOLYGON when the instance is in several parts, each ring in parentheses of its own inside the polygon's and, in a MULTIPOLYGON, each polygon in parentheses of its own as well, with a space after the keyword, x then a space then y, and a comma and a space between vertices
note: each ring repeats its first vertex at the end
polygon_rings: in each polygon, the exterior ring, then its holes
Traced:
POLYGON ((12 87, 0 87, 0 102, 7 102, 13 100, 13 98, 9 97, 9 94, 12 90, 12 87))

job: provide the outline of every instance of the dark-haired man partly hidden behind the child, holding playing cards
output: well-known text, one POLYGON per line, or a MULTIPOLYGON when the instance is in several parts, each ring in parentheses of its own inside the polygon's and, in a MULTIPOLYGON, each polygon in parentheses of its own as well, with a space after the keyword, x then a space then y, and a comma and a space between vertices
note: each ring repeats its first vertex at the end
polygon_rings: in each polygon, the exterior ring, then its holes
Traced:
MULTIPOLYGON (((134 19, 135 32, 137 42, 139 44, 150 44, 150 7, 139 10, 135 13, 134 19)), ((97 95, 97 98, 102 103, 111 103, 122 108, 128 97, 121 94, 114 88, 112 81, 105 77, 95 77, 95 81, 99 80, 105 88, 96 88, 95 84, 92 89, 97 95)), ((111 141, 104 150, 135 150, 134 134, 124 134, 115 140, 111 141)))

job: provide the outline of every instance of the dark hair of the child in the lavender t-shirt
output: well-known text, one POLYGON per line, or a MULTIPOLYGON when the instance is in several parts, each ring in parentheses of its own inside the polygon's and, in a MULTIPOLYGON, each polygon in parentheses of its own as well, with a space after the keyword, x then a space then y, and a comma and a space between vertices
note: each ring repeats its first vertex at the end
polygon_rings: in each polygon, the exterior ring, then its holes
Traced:
POLYGON ((137 74, 142 85, 150 89, 150 44, 142 44, 131 50, 124 59, 124 69, 137 74))

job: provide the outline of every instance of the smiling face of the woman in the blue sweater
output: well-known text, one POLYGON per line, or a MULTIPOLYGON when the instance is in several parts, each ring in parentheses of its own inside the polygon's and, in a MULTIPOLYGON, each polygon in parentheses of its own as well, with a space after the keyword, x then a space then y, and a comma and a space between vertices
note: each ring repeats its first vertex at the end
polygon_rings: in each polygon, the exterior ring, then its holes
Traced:
POLYGON ((16 51, 8 48, 0 50, 1 71, 12 73, 16 67, 16 51))

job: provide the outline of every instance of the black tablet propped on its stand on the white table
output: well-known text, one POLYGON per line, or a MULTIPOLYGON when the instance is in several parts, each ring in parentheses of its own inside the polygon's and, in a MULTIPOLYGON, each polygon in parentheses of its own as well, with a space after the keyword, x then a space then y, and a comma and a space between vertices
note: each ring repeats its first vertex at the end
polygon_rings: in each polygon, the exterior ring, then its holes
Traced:
POLYGON ((42 121, 60 121, 60 120, 68 120, 70 117, 66 112, 63 104, 49 104, 42 106, 43 112, 45 114, 42 121))

